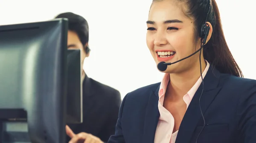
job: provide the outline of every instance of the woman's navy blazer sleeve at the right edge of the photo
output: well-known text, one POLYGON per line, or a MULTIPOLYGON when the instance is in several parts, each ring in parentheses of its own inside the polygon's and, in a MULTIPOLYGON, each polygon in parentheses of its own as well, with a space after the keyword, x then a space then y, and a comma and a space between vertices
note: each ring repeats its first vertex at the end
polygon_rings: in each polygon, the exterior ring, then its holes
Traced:
POLYGON ((238 104, 241 143, 256 143, 256 81, 249 83, 238 104))

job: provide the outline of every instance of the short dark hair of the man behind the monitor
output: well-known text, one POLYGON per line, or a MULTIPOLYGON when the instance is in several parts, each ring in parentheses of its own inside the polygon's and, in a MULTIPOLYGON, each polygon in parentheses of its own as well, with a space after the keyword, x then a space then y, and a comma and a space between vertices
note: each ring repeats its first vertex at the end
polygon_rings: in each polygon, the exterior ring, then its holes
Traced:
POLYGON ((76 32, 82 45, 84 46, 85 52, 89 53, 89 46, 85 47, 86 43, 89 41, 89 26, 84 17, 81 17, 80 15, 74 14, 72 12, 66 12, 59 14, 55 18, 68 19, 68 30, 76 32))

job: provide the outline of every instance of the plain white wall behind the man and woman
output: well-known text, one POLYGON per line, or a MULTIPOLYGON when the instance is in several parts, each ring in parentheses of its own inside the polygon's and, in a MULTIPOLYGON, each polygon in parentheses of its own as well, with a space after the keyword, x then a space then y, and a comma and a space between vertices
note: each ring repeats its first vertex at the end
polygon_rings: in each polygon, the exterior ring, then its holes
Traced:
MULTIPOLYGON (((256 79, 254 0, 216 0, 224 34, 246 78, 256 79)), ((0 25, 49 20, 71 11, 89 23, 92 49, 86 73, 126 93, 159 82, 145 43, 151 0, 0 0, 0 25)))

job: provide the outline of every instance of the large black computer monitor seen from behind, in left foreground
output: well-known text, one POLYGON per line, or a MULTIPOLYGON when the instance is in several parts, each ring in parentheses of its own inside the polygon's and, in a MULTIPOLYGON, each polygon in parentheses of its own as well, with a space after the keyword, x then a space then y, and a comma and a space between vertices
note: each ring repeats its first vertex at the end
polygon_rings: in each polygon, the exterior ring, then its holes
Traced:
POLYGON ((65 142, 67 27, 67 19, 0 26, 2 143, 65 142))

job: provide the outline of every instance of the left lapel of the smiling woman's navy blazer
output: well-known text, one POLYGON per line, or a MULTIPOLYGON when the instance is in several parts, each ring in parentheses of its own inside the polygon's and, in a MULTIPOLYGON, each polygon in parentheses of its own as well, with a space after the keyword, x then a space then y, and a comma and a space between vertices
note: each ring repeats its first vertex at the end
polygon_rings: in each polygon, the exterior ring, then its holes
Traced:
POLYGON ((157 123, 160 117, 158 111, 158 91, 159 87, 152 91, 151 95, 148 98, 148 105, 145 112, 145 121, 144 121, 144 131, 142 143, 154 143, 154 136, 157 129, 157 123))

